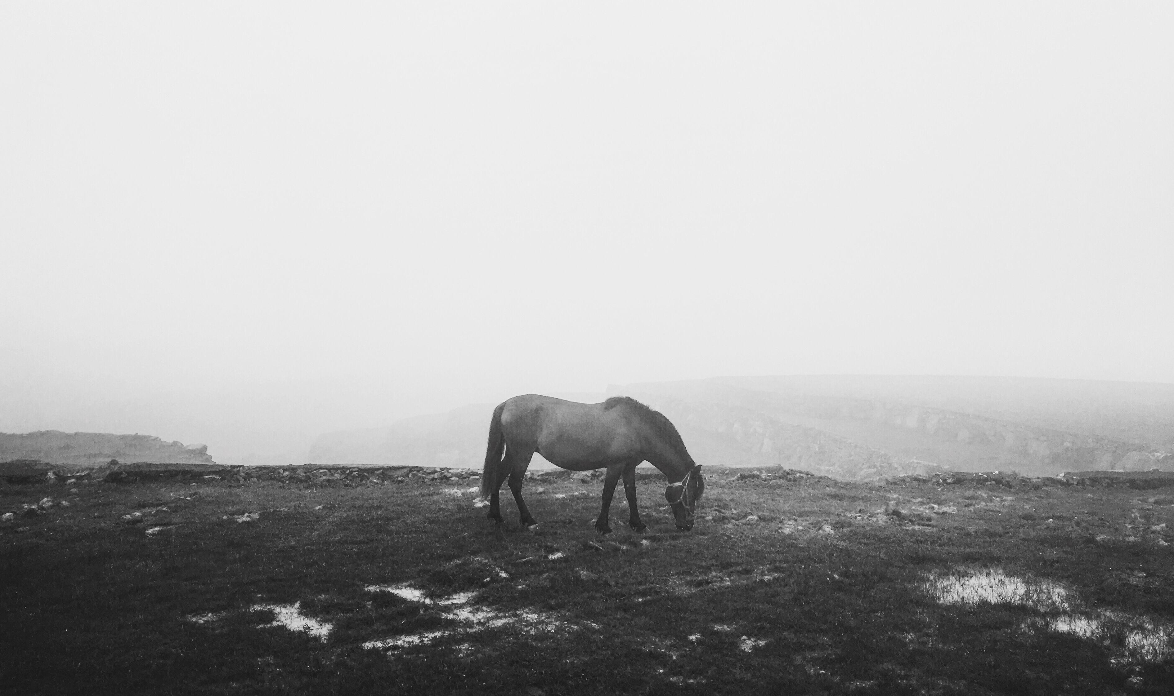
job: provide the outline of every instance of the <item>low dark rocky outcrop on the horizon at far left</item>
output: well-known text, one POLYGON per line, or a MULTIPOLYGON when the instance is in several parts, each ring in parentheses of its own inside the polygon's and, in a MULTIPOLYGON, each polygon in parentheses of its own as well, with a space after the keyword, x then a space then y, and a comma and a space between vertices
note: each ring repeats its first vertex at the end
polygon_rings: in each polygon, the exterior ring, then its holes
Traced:
POLYGON ((121 462, 216 464, 207 445, 167 442, 151 435, 108 433, 0 433, 0 462, 35 459, 67 467, 94 467, 112 459, 121 462))

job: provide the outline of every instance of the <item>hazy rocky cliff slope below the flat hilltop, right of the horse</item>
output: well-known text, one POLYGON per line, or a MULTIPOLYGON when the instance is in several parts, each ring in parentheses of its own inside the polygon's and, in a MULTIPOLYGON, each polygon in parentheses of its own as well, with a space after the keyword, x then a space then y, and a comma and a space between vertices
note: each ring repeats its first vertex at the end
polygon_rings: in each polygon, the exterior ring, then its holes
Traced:
POLYGON ((737 460, 730 461, 734 466, 753 460, 837 478, 876 478, 920 473, 902 471, 911 468, 1055 475, 1148 471, 1172 464, 1170 457, 1145 444, 1099 434, 830 390, 819 393, 816 387, 821 385, 784 390, 768 383, 762 385, 767 388, 756 390, 750 388, 751 378, 738 381, 738 386, 727 380, 634 384, 609 387, 609 392, 633 396, 662 411, 682 430, 686 441, 710 437, 706 433, 726 435, 731 440, 726 457, 737 460), (815 445, 816 440, 822 444, 815 445))

